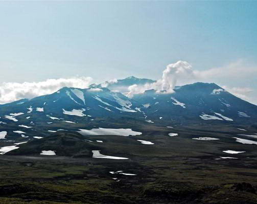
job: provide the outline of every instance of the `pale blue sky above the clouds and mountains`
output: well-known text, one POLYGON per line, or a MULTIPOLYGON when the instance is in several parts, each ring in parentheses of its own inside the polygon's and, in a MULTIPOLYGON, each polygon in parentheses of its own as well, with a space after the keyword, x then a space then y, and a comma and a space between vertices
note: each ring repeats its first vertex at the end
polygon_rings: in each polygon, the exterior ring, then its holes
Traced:
POLYGON ((199 72, 216 69, 202 80, 257 103, 256 8, 256 1, 0 2, 0 83, 159 79, 183 60, 199 72))

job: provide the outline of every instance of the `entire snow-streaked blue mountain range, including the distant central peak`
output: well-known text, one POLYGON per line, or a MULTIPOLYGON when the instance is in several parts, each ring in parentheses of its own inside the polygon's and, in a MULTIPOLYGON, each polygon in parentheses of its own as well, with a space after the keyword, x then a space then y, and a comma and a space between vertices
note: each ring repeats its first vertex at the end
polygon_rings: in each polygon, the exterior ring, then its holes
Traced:
MULTIPOLYGON (((129 77, 132 81, 152 80, 129 77)), ((257 106, 239 99, 214 83, 177 86, 174 93, 146 90, 128 98, 102 85, 89 88, 63 87, 50 95, 24 99, 0 106, 0 131, 7 125, 47 126, 53 122, 85 124, 95 119, 132 118, 141 123, 249 123, 257 121, 257 106), (3 127, 3 128, 2 128, 3 127)), ((21 132, 19 132, 22 134, 21 132)))

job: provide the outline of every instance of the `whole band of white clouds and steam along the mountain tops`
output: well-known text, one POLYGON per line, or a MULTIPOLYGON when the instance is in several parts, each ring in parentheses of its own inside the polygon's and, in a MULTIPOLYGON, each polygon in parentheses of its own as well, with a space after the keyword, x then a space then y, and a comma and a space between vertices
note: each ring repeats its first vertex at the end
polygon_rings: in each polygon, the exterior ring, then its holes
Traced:
MULTIPOLYGON (((178 61, 166 66, 162 72, 162 77, 154 83, 146 83, 144 85, 131 86, 115 86, 116 92, 126 93, 128 97, 134 94, 143 93, 145 90, 166 90, 166 93, 173 93, 175 85, 183 85, 193 82, 214 82, 217 84, 225 84, 222 86, 231 94, 257 104, 257 92, 255 87, 250 84, 241 87, 233 87, 233 83, 239 84, 246 79, 253 79, 257 76, 257 67, 243 60, 230 63, 225 66, 215 67, 209 70, 199 71, 193 70, 192 65, 186 61, 178 61), (228 86, 229 85, 229 86, 228 86), (252 86, 254 89, 246 87, 252 86), (256 94, 254 94, 256 93, 256 94)), ((2 83, 0 84, 0 104, 16 101, 24 98, 34 98, 36 96, 51 94, 56 92, 63 86, 86 88, 91 83, 90 77, 74 77, 68 79, 48 79, 41 82, 24 82, 24 83, 2 83)), ((249 80, 250 81, 250 80, 249 80)), ((102 83, 102 87, 118 82, 112 79, 102 83)), ((242 84, 242 83, 241 83, 242 84)), ((101 89, 92 88, 92 91, 101 91, 101 89)), ((222 90, 216 90, 213 94, 219 94, 222 90)))

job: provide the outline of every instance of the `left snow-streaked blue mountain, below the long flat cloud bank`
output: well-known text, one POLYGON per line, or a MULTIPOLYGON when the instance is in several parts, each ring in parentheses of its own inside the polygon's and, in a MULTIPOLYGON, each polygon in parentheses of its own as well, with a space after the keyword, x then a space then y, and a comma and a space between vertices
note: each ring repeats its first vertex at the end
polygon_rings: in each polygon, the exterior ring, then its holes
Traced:
MULTIPOLYGON (((16 116, 37 116, 39 118, 89 118, 118 117, 124 115, 142 116, 136 110, 141 104, 121 93, 107 88, 63 87, 50 95, 39 96, 20 103, 10 103, 0 107, 1 121, 16 122, 16 116)), ((58 119, 56 119, 58 120, 58 119)))

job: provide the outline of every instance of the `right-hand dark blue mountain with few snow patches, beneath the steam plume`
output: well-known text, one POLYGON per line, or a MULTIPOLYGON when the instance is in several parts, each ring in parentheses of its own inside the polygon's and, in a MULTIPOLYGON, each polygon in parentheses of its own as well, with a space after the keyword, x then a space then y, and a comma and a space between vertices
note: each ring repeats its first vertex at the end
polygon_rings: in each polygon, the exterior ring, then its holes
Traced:
POLYGON ((149 119, 187 121, 248 122, 257 120, 257 106, 226 92, 215 83, 194 83, 175 87, 174 93, 147 90, 132 98, 143 104, 149 119))

